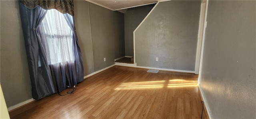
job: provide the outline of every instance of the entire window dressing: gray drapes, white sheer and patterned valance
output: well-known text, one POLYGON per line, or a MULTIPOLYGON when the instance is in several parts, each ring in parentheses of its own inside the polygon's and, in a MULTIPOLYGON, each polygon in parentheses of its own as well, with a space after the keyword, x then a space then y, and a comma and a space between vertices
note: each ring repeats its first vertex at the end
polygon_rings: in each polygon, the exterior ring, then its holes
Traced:
POLYGON ((33 98, 41 99, 82 82, 84 68, 73 0, 20 0, 19 8, 33 98))

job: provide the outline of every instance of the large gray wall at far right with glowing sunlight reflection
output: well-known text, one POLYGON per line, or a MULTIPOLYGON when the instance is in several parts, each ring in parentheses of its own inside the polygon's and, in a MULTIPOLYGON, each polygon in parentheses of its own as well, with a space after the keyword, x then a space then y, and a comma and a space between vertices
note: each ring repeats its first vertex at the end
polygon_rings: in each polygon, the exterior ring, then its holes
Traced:
POLYGON ((210 0, 200 87, 213 119, 256 118, 256 1, 210 0))

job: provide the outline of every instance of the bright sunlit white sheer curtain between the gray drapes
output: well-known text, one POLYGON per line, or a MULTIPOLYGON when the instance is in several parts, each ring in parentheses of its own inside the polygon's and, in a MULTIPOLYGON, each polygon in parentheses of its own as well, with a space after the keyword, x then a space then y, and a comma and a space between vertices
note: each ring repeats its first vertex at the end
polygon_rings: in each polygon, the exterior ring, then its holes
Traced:
POLYGON ((39 31, 46 48, 48 64, 63 65, 74 62, 73 33, 64 14, 55 9, 48 10, 39 31))

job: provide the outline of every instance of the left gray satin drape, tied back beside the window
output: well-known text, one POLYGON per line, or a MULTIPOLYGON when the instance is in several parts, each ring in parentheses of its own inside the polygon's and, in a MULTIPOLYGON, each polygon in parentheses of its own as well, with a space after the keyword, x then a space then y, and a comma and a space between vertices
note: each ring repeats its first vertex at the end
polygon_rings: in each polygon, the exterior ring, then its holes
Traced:
POLYGON ((32 97, 34 99, 41 99, 45 96, 54 94, 57 91, 54 87, 55 84, 52 80, 50 68, 46 61, 46 54, 39 33, 36 30, 46 12, 46 10, 39 6, 34 9, 28 9, 20 4, 20 18, 32 85, 32 97), (38 59, 40 59, 39 67, 38 59))

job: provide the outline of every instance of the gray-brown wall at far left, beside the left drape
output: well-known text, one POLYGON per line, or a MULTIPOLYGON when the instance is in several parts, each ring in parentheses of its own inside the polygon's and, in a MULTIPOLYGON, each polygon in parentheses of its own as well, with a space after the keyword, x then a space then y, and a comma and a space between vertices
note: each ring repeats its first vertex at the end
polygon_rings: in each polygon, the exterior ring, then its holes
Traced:
POLYGON ((1 86, 7 107, 32 98, 18 1, 1 2, 1 86))

